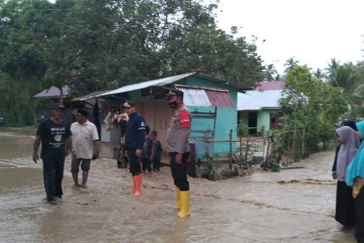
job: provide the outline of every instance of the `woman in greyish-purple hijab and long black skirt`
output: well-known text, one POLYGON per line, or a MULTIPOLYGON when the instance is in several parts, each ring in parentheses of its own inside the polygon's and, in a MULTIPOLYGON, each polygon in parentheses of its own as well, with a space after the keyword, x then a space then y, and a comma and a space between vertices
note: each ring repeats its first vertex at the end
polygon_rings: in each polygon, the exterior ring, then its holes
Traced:
POLYGON ((336 213, 335 219, 343 226, 354 226, 355 204, 352 188, 345 183, 347 166, 360 146, 360 141, 354 129, 343 126, 335 129, 338 141, 341 143, 336 159, 336 213))

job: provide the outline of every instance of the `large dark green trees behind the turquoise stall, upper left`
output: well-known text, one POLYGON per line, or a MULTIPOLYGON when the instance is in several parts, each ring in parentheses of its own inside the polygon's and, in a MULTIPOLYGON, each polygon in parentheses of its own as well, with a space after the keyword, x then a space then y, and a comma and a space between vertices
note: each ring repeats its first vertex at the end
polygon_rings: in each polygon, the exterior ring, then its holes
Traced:
POLYGON ((32 96, 50 86, 67 84, 76 96, 194 71, 255 86, 263 69, 255 41, 218 29, 216 7, 199 0, 0 1, 0 70, 7 75, 0 95, 11 95, 0 111, 14 125, 31 124, 42 104, 32 96))

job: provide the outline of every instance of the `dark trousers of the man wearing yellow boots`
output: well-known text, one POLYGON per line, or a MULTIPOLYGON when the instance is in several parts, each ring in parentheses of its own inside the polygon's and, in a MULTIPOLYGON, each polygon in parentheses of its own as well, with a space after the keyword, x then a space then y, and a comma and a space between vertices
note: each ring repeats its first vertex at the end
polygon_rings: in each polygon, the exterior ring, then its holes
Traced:
POLYGON ((174 185, 180 189, 180 191, 189 191, 190 185, 187 181, 187 159, 190 157, 190 152, 186 152, 182 155, 182 164, 176 163, 177 153, 170 153, 170 165, 171 172, 174 181, 174 185))

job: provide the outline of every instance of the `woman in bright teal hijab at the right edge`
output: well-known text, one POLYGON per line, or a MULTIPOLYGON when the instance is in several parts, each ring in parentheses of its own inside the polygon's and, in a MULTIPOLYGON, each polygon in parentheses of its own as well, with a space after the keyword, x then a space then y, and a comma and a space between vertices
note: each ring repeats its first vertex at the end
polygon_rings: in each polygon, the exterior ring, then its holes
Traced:
MULTIPOLYGON (((358 134, 363 137, 364 121, 356 122, 358 134)), ((364 243, 364 143, 351 160, 345 174, 347 186, 353 187, 355 198, 355 239, 364 243)))

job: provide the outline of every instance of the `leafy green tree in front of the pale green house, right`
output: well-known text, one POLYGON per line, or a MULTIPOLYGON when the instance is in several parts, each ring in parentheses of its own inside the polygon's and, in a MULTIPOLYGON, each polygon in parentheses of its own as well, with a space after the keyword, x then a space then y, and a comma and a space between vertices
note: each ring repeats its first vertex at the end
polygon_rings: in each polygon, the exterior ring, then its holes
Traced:
POLYGON ((347 111, 347 99, 342 88, 331 87, 312 76, 306 67, 297 66, 284 80, 280 100, 284 116, 282 131, 297 131, 277 139, 279 154, 294 150, 294 160, 325 149, 334 138, 335 123, 347 111), (302 151, 303 148, 303 151, 302 151))

